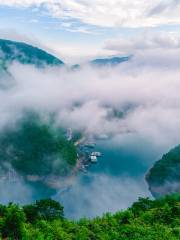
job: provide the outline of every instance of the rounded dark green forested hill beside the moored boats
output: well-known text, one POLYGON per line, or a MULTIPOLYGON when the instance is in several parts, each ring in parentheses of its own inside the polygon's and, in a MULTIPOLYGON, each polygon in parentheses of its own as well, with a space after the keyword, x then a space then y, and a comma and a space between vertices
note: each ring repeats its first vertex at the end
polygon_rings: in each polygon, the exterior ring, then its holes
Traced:
POLYGON ((62 131, 35 114, 27 114, 18 126, 0 135, 0 164, 4 171, 12 166, 24 177, 64 176, 76 164, 76 158, 76 148, 62 131))

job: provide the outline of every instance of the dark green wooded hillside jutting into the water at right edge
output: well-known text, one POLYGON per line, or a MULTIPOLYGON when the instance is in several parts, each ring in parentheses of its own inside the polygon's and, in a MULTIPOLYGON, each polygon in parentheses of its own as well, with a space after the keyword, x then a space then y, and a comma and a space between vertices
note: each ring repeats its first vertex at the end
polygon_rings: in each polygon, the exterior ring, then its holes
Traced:
POLYGON ((155 197, 180 192, 180 145, 164 154, 154 164, 146 180, 155 197))

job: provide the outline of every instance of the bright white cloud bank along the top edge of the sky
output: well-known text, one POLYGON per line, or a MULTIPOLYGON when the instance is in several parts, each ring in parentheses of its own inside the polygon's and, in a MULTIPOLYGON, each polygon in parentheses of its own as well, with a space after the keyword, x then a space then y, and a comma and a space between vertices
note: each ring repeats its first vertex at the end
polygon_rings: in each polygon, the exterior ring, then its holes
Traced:
POLYGON ((180 23, 177 0, 0 0, 1 5, 36 7, 54 18, 99 27, 152 27, 180 23))

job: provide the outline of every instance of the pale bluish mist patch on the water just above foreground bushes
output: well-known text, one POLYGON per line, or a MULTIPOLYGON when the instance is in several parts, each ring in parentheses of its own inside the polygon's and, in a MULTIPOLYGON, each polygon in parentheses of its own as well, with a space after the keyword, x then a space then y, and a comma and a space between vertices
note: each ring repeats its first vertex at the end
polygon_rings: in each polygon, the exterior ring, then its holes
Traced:
POLYGON ((139 196, 150 196, 142 179, 105 174, 89 174, 86 178, 90 180, 78 178, 67 192, 60 191, 54 196, 64 205, 67 217, 79 219, 113 213, 130 207, 139 196))

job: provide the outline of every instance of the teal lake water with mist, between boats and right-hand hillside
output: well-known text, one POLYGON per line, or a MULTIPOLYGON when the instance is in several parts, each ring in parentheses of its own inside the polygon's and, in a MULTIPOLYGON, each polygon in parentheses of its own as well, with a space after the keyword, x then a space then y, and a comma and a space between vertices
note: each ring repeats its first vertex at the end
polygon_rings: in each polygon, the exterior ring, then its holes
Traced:
POLYGON ((70 218, 93 217, 129 207, 138 197, 151 197, 144 176, 165 146, 156 146, 137 134, 101 140, 95 149, 103 155, 74 185, 55 196, 70 218))

